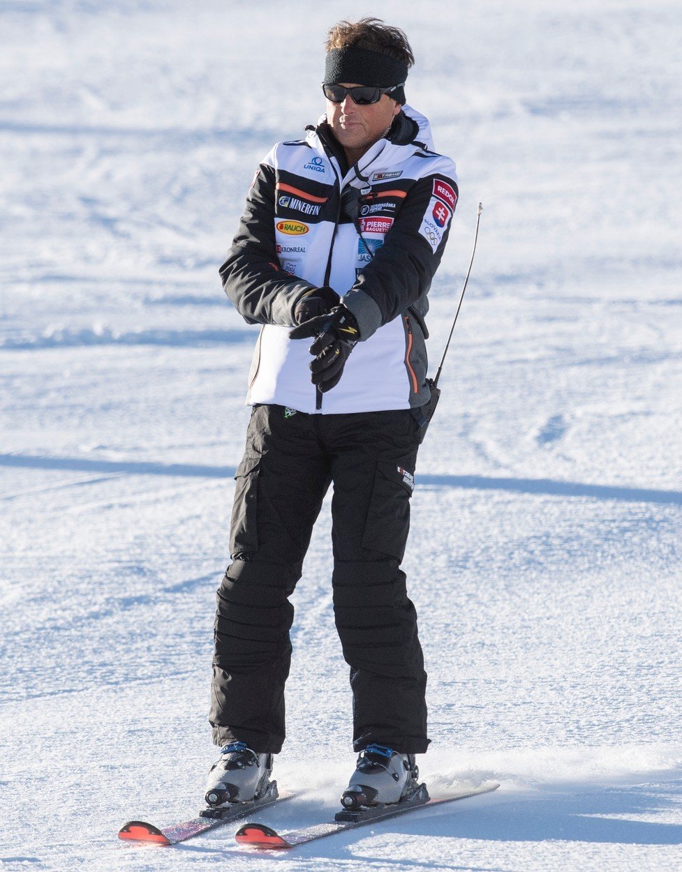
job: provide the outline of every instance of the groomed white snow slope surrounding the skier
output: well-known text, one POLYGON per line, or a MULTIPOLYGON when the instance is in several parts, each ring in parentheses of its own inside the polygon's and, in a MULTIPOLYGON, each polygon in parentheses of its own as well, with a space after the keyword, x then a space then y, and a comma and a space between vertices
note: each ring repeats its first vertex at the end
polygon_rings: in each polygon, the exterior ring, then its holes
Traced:
MULTIPOLYGON (((0 8, 0 869, 675 869, 682 552, 679 3, 25 0, 0 8), (321 110, 326 28, 402 26, 457 160, 405 567, 433 789, 494 794, 269 859, 172 850, 208 734, 257 330, 217 267, 257 161, 321 110)), ((282 786, 351 771, 329 510, 294 596, 282 786)))

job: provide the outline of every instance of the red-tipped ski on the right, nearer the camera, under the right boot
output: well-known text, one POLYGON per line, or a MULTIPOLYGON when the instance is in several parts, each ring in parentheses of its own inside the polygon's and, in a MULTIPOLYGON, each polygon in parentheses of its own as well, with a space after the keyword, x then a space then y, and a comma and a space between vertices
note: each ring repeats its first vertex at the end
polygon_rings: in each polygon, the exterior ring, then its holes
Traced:
POLYGON ((431 799, 426 790, 426 784, 422 784, 412 799, 404 800, 396 806, 379 805, 373 808, 362 808, 359 811, 353 812, 343 810, 338 812, 334 821, 327 821, 313 827, 285 833, 284 835, 280 835, 276 830, 260 823, 247 823, 237 830, 235 839, 240 845, 249 845, 259 850, 296 848, 297 845, 304 845, 309 841, 324 839, 327 835, 344 833, 349 829, 363 827, 365 824, 374 823, 375 821, 386 821, 397 817, 399 814, 414 811, 417 808, 432 808, 443 805, 445 802, 464 800, 469 796, 488 794, 493 790, 497 790, 498 787, 500 785, 496 781, 488 782, 480 787, 468 787, 458 791, 456 794, 431 799))

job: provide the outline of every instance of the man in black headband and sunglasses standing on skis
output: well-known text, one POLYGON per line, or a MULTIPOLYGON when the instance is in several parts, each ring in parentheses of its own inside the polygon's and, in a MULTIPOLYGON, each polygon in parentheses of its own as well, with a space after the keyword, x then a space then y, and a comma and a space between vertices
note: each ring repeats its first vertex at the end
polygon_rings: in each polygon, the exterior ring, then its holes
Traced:
POLYGON ((284 739, 288 597, 332 482, 334 616, 359 752, 345 804, 408 798, 414 755, 429 743, 399 565, 430 394, 426 294, 454 214, 455 169, 406 105, 414 59, 402 31, 341 22, 326 49, 326 114, 258 167, 221 268, 236 309, 263 327, 215 617, 216 806, 268 790, 284 739))

